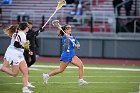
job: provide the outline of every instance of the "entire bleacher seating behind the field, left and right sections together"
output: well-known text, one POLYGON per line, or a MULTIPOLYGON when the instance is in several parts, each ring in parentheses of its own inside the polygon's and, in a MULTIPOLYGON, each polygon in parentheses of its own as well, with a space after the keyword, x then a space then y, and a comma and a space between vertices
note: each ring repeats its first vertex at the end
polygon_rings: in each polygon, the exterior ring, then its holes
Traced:
MULTIPOLYGON (((0 28, 17 23, 18 15, 29 15, 30 20, 33 22, 33 28, 38 29, 42 23, 42 16, 45 17, 45 22, 55 11, 58 0, 13 0, 11 5, 2 5, 2 17, 0 22, 0 28)), ((132 5, 132 13, 135 10, 135 0, 132 5)), ((0 1, 1 3, 2 1, 0 1)), ((66 23, 66 16, 73 7, 63 7, 60 9, 52 19, 60 20, 61 24, 66 23)), ((114 31, 114 25, 112 22, 114 19, 114 9, 112 6, 112 0, 93 0, 92 7, 93 14, 93 31, 94 32, 112 32, 114 31)), ((125 15, 124 8, 121 9, 121 15, 125 15)), ((90 26, 78 26, 80 31, 90 31, 90 26)), ((54 31, 51 22, 45 26, 45 30, 54 31)))

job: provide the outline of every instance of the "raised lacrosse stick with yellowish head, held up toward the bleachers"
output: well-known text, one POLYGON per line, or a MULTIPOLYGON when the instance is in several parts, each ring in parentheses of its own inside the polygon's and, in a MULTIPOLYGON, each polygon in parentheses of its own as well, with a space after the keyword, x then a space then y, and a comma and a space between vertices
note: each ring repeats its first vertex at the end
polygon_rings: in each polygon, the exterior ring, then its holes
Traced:
POLYGON ((55 13, 62 8, 63 5, 66 5, 66 1, 65 0, 59 0, 58 1, 58 5, 54 11, 54 13, 50 16, 50 18, 47 20, 47 22, 42 26, 42 29, 47 25, 47 23, 50 21, 50 19, 55 15, 55 13))

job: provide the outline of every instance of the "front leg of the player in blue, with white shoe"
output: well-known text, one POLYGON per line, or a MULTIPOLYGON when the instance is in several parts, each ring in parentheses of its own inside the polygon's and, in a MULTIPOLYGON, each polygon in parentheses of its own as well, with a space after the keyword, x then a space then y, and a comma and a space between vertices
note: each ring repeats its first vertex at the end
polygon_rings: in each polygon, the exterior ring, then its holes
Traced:
POLYGON ((79 68, 79 85, 87 84, 87 82, 83 80, 84 66, 82 61, 77 56, 74 56, 72 58, 72 64, 79 68))

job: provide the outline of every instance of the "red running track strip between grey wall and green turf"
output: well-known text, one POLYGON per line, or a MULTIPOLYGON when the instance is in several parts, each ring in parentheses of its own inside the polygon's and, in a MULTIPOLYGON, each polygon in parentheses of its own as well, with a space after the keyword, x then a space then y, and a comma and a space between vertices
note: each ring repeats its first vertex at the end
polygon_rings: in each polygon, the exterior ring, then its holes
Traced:
MULTIPOLYGON (((0 60, 3 56, 0 56, 0 60)), ((84 64, 118 64, 118 65, 140 65, 140 60, 131 59, 101 59, 101 58, 80 58, 84 64)), ((59 62, 59 57, 37 57, 40 62, 59 62)))

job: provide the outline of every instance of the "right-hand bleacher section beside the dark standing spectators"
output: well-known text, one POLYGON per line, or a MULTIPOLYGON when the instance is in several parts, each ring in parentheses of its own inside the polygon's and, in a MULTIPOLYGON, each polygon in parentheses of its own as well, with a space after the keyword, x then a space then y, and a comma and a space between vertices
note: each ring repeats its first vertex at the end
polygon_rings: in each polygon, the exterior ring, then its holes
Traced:
MULTIPOLYGON (((136 0, 133 0, 131 14, 135 12, 136 0)), ((121 16, 125 15, 124 7, 121 8, 121 16)), ((112 5, 112 0, 93 0, 93 28, 94 32, 114 32, 115 29, 115 13, 112 5)), ((81 31, 90 31, 90 26, 79 27, 81 31)))

